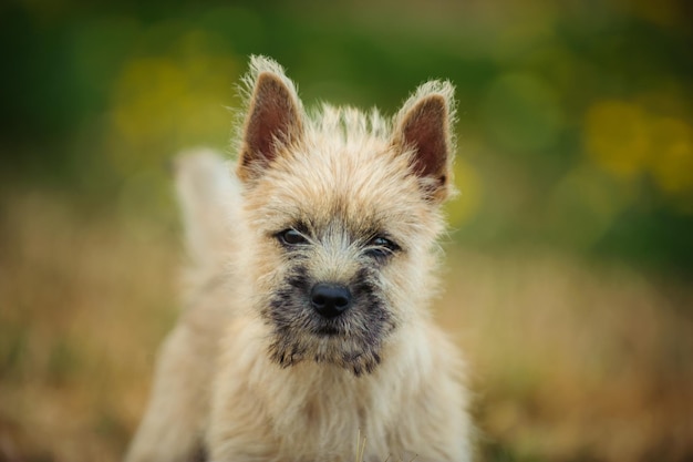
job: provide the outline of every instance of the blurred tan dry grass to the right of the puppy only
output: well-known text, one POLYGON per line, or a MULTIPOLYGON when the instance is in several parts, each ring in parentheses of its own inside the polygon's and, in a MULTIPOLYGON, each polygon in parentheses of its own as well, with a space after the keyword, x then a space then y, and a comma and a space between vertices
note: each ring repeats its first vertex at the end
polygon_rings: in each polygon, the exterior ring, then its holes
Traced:
POLYGON ((470 358, 489 452, 693 456, 690 288, 556 256, 454 263, 439 317, 470 358))

